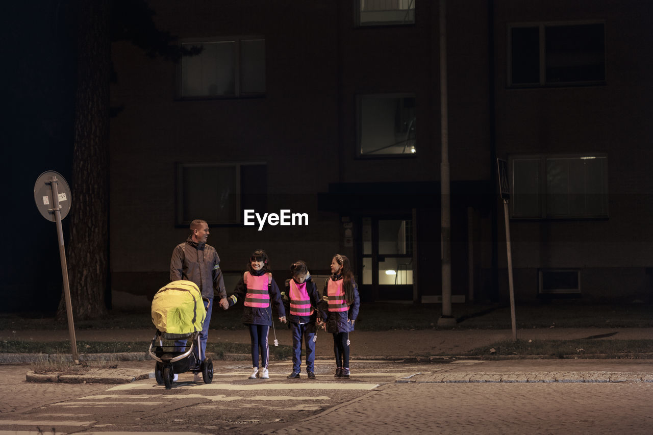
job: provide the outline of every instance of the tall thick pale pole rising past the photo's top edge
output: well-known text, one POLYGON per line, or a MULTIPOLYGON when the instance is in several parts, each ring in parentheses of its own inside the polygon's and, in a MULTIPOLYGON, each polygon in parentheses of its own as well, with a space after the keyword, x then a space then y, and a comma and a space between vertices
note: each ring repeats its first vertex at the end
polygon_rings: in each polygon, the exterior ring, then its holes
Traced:
POLYGON ((451 189, 449 188, 449 114, 447 112, 447 4, 440 0, 440 236, 442 244, 442 317, 440 326, 454 326, 451 315, 451 189))

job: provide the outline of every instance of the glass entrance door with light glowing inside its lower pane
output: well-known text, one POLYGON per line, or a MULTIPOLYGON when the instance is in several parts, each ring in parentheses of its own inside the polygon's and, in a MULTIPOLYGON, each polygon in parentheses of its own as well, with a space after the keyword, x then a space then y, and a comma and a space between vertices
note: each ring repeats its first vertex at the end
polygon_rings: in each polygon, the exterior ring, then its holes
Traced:
POLYGON ((375 300, 412 300, 411 219, 362 218, 362 285, 375 300))

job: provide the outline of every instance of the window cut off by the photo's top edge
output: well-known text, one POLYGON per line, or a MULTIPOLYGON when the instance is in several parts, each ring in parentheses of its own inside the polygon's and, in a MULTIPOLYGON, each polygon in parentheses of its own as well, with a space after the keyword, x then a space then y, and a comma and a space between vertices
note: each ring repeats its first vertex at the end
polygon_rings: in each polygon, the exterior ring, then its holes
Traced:
POLYGON ((356 25, 415 23, 415 0, 356 0, 356 25))

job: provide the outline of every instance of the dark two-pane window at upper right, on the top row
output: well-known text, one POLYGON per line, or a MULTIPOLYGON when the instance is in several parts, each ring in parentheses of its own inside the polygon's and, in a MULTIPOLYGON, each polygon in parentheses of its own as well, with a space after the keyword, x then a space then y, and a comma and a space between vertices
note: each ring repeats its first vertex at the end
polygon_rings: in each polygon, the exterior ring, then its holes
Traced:
POLYGON ((513 87, 605 83, 605 25, 509 27, 508 83, 513 87))

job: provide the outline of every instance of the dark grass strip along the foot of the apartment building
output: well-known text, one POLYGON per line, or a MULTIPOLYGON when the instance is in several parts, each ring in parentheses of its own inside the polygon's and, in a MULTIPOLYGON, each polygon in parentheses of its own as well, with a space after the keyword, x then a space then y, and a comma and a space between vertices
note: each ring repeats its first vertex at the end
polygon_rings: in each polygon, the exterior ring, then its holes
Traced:
MULTIPOLYGON (((521 304, 515 309, 517 327, 528 328, 645 328, 653 327, 651 304, 584 304, 564 300, 541 304, 521 304)), ((356 321, 357 330, 438 329, 441 304, 401 302, 363 303, 356 321)), ((498 304, 453 304, 456 329, 511 329, 510 308, 498 304)), ((276 323, 281 330, 287 327, 276 323)), ((0 314, 0 330, 67 330, 57 322, 37 314, 0 314)), ((110 312, 101 319, 75 321, 75 329, 151 329, 150 312, 110 312)), ((242 306, 215 310, 210 329, 243 329, 242 306)), ((448 328, 449 329, 449 328, 448 328)))

